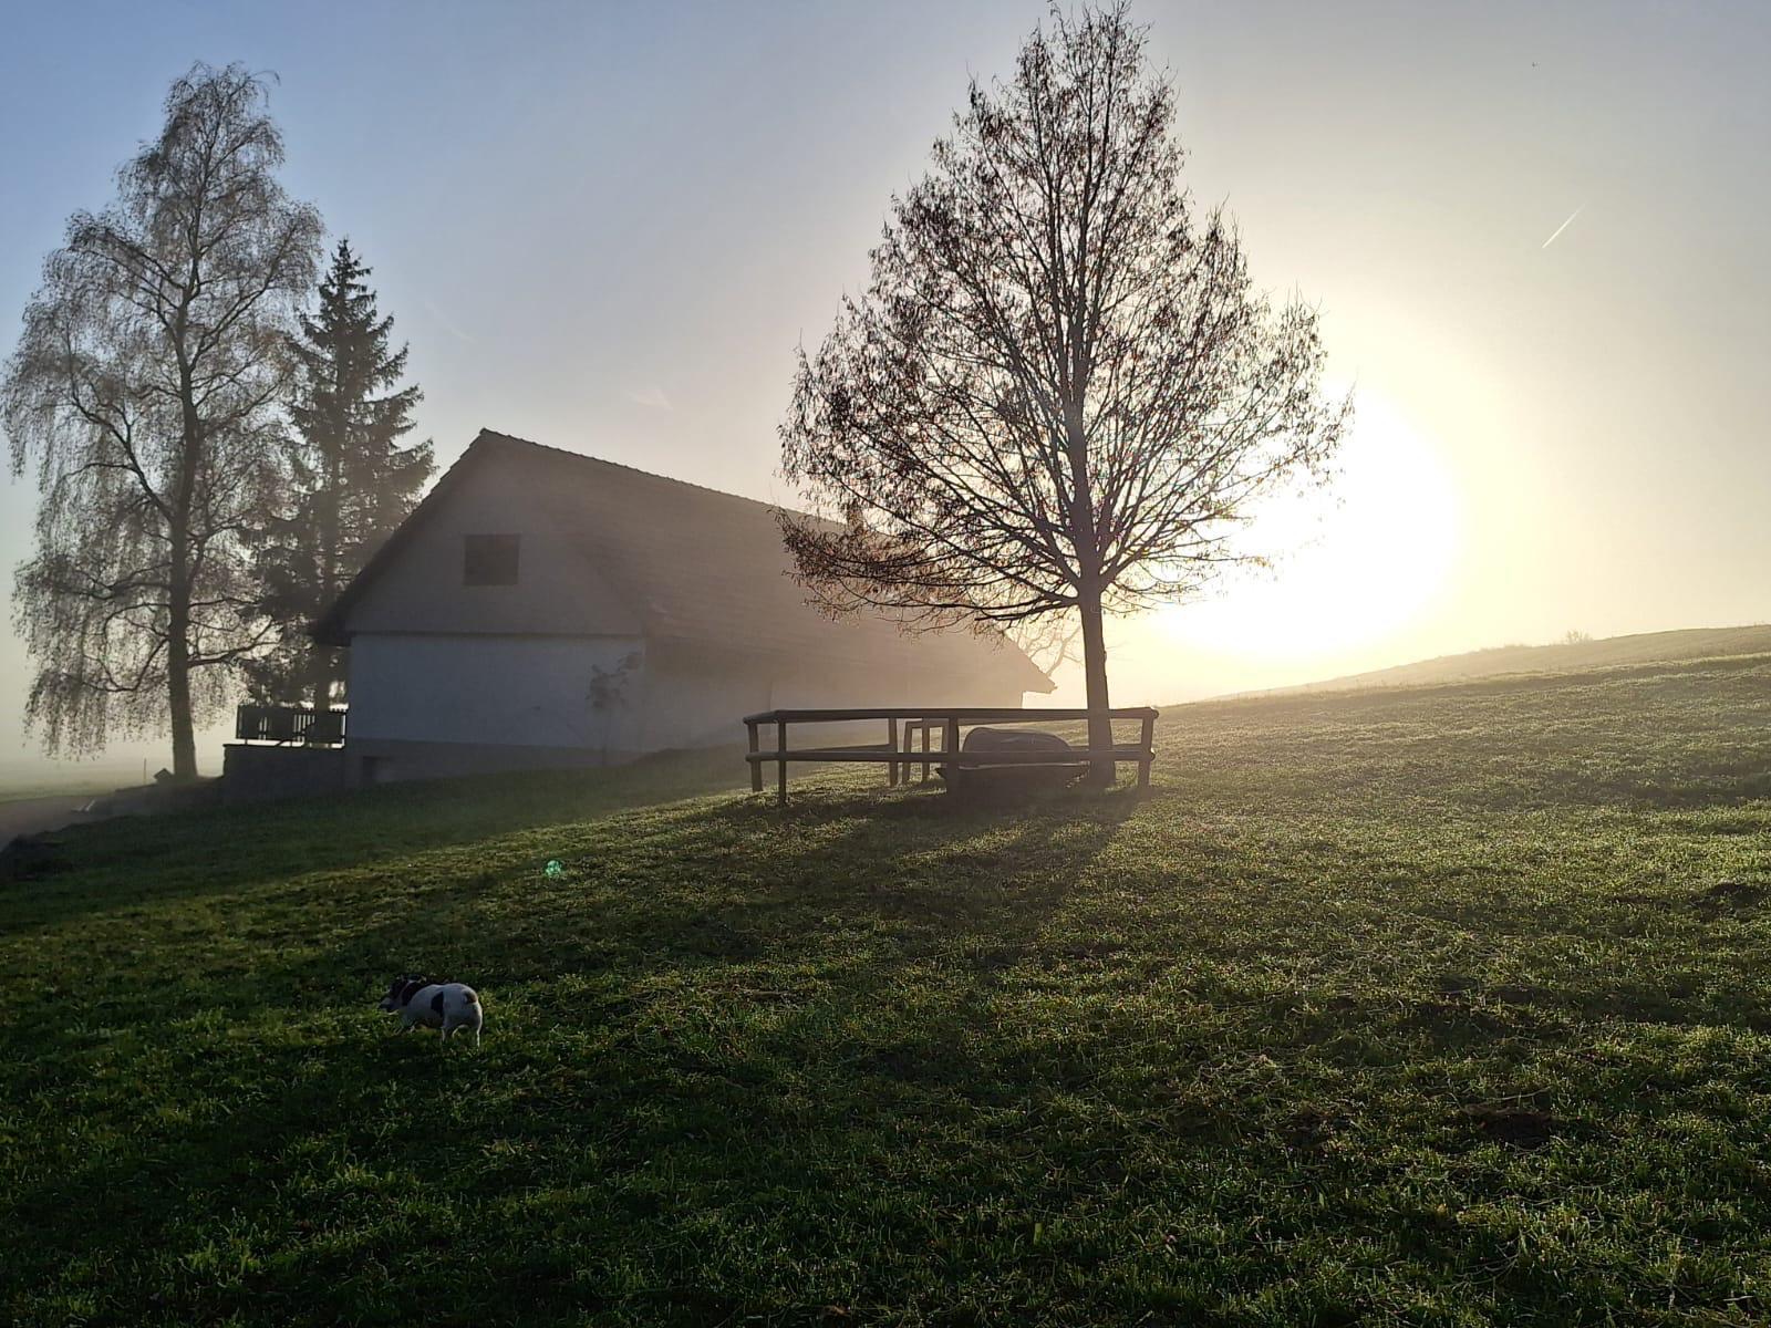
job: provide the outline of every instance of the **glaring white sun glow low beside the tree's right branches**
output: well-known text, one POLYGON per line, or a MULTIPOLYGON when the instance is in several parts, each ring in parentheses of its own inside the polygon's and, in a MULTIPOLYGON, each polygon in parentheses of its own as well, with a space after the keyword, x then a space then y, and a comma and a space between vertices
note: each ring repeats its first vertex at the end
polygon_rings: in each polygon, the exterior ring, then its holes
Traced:
POLYGON ((1461 547, 1458 485, 1394 405, 1360 391, 1332 494, 1277 501, 1249 547, 1273 568, 1158 613, 1171 645, 1261 660, 1353 650, 1431 607, 1461 547))

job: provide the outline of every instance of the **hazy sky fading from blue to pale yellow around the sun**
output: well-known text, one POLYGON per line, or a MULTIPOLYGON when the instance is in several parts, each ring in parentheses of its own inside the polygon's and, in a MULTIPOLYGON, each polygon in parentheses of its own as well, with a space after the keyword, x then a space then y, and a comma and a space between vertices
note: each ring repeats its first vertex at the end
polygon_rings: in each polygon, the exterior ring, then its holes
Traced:
MULTIPOLYGON (((287 188, 374 266, 441 462, 492 427, 788 501, 795 347, 1043 12, 0 4, 0 352, 170 80, 239 60, 276 74, 287 188)), ((1194 197, 1321 310, 1358 418, 1335 501, 1259 521, 1270 572, 1114 627, 1116 701, 1771 616, 1771 7, 1133 14, 1194 197)), ((0 478, 7 597, 34 503, 0 478)), ((0 639, 0 763, 35 754, 28 671, 0 639)))

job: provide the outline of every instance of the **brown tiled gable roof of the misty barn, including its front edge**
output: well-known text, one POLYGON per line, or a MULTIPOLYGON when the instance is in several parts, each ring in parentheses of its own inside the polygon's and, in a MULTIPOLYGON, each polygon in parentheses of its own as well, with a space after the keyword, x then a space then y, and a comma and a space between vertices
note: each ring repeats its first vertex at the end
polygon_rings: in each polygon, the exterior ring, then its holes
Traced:
POLYGON ((788 575, 779 508, 684 480, 480 430, 333 606, 313 637, 349 645, 351 613, 400 558, 416 529, 480 467, 498 466, 535 496, 554 535, 584 560, 661 643, 717 646, 760 655, 871 664, 893 655, 919 668, 1008 675, 1020 691, 1048 692, 1052 680, 997 632, 965 629, 905 636, 868 614, 831 620, 806 602, 788 575))

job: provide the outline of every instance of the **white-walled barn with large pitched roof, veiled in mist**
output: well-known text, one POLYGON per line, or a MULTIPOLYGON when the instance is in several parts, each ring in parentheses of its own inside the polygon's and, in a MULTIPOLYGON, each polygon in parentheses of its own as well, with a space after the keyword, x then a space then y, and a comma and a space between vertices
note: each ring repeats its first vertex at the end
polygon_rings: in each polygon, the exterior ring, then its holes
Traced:
POLYGON ((735 742, 777 706, 1022 705, 967 630, 831 620, 776 508, 482 432, 313 627, 349 646, 349 783, 735 742))

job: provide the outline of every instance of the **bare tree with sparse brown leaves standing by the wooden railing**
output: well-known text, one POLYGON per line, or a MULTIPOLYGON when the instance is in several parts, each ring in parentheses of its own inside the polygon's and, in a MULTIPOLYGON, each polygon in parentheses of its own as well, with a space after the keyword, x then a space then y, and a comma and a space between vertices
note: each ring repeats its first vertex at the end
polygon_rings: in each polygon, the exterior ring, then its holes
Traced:
POLYGON ((1314 310, 1275 308, 1234 227, 1194 216, 1144 42, 1125 5, 1054 9, 1011 81, 972 83, 781 427, 825 517, 783 519, 815 598, 907 627, 1075 614, 1094 747, 1103 614, 1250 560, 1250 505, 1326 478, 1350 411, 1319 395, 1314 310))

